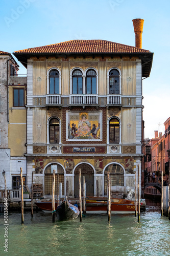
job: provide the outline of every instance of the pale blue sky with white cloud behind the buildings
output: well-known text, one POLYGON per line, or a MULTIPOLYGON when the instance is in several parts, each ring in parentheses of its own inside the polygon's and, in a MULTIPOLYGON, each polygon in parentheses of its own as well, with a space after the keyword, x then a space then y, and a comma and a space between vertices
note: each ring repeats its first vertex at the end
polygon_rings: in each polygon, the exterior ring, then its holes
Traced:
MULTIPOLYGON (((142 48, 154 53, 143 79, 145 138, 164 134, 170 117, 169 0, 0 0, 0 50, 17 50, 72 39, 103 39, 135 46, 132 19, 144 19, 142 48)), ((19 62, 19 74, 27 70, 19 62)))

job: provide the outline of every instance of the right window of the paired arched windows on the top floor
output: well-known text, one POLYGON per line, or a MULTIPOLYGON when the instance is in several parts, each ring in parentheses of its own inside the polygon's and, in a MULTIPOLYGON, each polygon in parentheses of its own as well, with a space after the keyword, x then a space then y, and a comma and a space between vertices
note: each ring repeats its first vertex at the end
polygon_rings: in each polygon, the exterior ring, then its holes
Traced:
POLYGON ((96 94, 96 73, 92 69, 86 74, 86 94, 96 94))

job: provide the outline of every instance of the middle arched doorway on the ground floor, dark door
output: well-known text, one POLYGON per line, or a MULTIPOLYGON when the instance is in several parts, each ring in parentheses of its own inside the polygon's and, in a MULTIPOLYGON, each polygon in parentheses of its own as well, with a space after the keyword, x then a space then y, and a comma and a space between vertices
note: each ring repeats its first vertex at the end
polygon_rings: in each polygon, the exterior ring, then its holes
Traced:
POLYGON ((89 164, 80 164, 75 169, 75 179, 74 179, 74 194, 75 197, 79 197, 79 169, 81 169, 81 188, 83 193, 83 176, 85 176, 86 181, 86 196, 94 196, 94 170, 89 164))

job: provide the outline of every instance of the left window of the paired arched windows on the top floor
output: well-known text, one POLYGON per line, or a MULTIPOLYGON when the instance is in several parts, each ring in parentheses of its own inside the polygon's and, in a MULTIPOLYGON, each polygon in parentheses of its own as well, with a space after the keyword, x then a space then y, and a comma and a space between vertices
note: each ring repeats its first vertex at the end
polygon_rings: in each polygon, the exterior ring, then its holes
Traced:
POLYGON ((83 94, 83 76, 78 69, 72 73, 72 94, 83 94))

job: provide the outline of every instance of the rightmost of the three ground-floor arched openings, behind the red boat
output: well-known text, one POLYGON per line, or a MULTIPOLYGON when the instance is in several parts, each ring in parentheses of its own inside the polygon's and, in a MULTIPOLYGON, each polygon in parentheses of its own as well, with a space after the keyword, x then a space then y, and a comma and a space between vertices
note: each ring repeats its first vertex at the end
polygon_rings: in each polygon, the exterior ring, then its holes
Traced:
POLYGON ((105 169, 105 195, 107 195, 107 172, 110 173, 112 186, 124 186, 124 169, 117 163, 109 164, 105 169))

